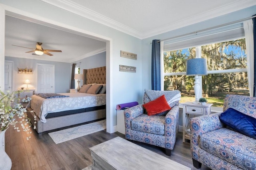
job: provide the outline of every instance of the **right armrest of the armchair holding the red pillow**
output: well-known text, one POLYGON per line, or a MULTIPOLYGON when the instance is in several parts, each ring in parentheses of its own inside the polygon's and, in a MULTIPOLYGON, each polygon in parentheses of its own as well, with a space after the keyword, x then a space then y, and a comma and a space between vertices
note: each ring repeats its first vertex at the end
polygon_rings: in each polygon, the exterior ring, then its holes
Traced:
POLYGON ((179 110, 180 108, 178 106, 174 106, 165 116, 164 137, 167 149, 172 150, 176 141, 179 125, 179 110))

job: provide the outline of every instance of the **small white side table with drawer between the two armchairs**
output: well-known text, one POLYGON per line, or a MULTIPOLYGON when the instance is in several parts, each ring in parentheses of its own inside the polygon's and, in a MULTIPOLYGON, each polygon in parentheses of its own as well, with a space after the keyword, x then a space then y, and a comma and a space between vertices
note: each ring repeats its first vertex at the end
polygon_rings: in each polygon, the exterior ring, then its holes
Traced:
POLYGON ((208 115, 211 113, 212 104, 206 105, 192 104, 192 102, 183 103, 183 142, 185 139, 190 140, 189 115, 208 115))

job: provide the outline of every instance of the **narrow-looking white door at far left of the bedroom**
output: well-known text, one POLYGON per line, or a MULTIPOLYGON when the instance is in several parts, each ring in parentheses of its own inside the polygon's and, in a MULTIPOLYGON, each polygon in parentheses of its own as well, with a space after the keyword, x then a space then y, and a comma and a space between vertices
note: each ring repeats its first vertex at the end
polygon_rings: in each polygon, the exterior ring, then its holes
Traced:
POLYGON ((12 62, 4 62, 4 90, 12 92, 12 62))

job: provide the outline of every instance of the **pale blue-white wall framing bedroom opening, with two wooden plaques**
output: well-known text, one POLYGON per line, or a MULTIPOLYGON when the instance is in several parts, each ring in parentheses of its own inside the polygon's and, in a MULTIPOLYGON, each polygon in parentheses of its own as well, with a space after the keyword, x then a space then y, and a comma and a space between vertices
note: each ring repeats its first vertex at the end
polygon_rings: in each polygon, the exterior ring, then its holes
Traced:
MULTIPOLYGON (((116 125, 116 105, 120 103, 138 101, 141 103, 143 91, 142 87, 142 40, 122 33, 100 23, 88 20, 76 14, 67 12, 57 7, 48 5, 40 0, 2 0, 0 4, 0 25, 4 25, 2 20, 5 11, 11 11, 25 16, 33 16, 37 20, 54 22, 56 25, 67 25, 69 28, 74 28, 81 31, 90 31, 90 35, 100 35, 111 39, 107 42, 110 46, 110 58, 107 59, 110 69, 110 87, 111 104, 109 110, 110 125, 116 125), (2 5, 4 4, 4 5, 2 5), (112 49, 111 49, 112 48, 112 49), (137 54, 137 60, 126 59, 120 57, 120 51, 127 51, 137 54), (120 72, 119 65, 135 66, 136 73, 120 72)), ((3 28, 0 27, 0 37, 4 37, 3 28)), ((4 48, 4 42, 0 40, 0 49, 4 48)), ((4 61, 4 54, 0 50, 0 65, 4 61)), ((70 67, 69 67, 70 68, 70 67)), ((4 81, 4 72, 0 70, 0 81, 4 81)), ((108 90, 108 89, 107 89, 108 90)), ((108 109, 108 106, 107 106, 108 109)), ((108 117, 108 115, 107 115, 108 117)), ((107 120, 108 124, 108 120, 107 120)), ((108 131, 108 125, 107 125, 108 131)), ((111 131, 113 132, 113 131, 111 131)))

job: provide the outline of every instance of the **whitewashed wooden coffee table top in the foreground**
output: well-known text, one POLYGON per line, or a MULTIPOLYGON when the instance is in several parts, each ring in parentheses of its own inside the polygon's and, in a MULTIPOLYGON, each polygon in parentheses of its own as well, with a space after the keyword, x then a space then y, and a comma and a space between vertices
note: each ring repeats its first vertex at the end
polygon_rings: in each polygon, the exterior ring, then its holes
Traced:
POLYGON ((90 150, 92 170, 190 170, 121 137, 91 147, 90 150))

